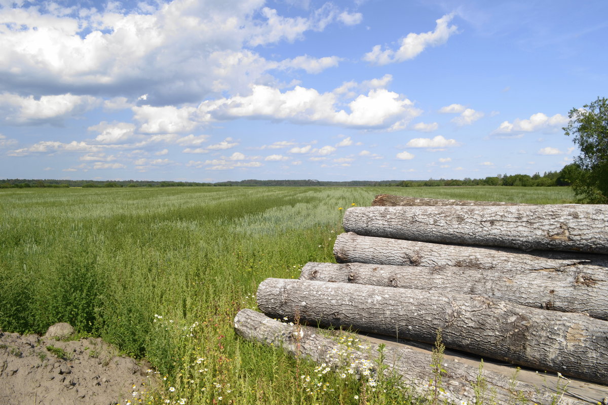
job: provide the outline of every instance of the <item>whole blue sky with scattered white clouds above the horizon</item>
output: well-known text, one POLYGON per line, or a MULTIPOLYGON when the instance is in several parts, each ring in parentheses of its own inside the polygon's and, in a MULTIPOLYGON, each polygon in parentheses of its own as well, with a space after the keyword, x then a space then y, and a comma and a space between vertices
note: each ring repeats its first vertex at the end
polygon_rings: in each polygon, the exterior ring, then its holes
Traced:
POLYGON ((606 1, 0 0, 0 178, 556 171, 606 1))

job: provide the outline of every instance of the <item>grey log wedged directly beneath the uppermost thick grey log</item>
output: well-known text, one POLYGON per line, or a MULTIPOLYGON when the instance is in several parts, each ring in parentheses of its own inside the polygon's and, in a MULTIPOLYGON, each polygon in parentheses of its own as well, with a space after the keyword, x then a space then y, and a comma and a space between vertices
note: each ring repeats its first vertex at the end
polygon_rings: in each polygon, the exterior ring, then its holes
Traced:
POLYGON ((562 270, 577 266, 601 270, 608 267, 608 256, 559 251, 522 252, 508 248, 442 245, 384 237, 343 233, 334 243, 339 263, 359 262, 423 267, 470 267, 479 269, 562 270))

